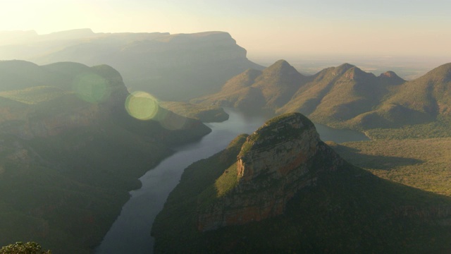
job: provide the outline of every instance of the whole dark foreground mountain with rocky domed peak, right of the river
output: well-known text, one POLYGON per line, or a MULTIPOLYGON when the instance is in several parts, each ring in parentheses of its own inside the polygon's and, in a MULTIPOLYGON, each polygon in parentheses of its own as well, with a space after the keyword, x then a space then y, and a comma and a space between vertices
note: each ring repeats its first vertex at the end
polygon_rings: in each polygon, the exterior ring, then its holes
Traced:
POLYGON ((185 169, 156 253, 447 253, 451 199, 354 167, 299 113, 185 169))

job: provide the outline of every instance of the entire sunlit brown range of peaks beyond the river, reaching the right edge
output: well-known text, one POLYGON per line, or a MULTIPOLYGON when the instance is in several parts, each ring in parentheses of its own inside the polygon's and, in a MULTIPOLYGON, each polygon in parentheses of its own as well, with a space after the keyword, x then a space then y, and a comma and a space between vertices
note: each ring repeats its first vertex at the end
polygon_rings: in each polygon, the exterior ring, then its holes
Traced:
POLYGON ((451 63, 406 81, 392 71, 376 76, 349 63, 304 76, 280 60, 236 75, 221 92, 192 102, 273 114, 298 111, 340 128, 397 128, 451 119, 450 77, 451 63))

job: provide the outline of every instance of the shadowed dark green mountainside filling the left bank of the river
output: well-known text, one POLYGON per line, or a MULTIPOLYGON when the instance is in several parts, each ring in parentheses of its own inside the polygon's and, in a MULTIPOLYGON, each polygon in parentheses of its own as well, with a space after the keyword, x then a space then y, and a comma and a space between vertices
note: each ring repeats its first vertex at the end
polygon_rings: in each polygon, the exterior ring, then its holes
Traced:
POLYGON ((91 253, 138 178, 209 131, 130 95, 110 66, 0 61, 0 246, 91 253))

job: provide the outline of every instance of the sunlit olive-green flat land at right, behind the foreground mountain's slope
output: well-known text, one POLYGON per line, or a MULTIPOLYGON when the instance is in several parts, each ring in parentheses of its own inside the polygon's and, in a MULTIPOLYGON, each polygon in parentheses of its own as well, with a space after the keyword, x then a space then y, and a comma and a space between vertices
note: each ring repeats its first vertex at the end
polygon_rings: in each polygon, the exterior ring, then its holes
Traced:
POLYGON ((383 179, 451 196, 451 138, 372 140, 333 148, 383 179))

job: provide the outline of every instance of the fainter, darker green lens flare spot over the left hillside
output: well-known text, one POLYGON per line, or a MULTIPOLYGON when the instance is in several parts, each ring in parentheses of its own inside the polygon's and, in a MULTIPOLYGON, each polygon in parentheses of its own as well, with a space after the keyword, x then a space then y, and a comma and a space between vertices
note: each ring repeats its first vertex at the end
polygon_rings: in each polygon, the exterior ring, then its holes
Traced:
POLYGON ((86 102, 103 102, 109 97, 109 81, 92 73, 78 75, 73 81, 72 89, 86 102))

